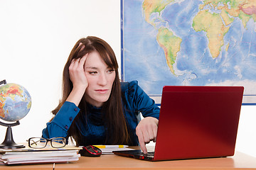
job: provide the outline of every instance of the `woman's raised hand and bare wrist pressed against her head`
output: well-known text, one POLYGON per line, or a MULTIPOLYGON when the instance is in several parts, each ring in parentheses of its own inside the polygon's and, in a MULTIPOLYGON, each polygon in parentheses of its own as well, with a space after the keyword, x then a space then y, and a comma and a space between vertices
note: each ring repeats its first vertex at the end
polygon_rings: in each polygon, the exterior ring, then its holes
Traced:
POLYGON ((88 86, 84 68, 87 55, 88 54, 80 59, 72 60, 69 67, 70 80, 73 83, 73 89, 66 101, 73 102, 76 106, 79 105, 81 98, 83 94, 85 94, 85 90, 88 86))

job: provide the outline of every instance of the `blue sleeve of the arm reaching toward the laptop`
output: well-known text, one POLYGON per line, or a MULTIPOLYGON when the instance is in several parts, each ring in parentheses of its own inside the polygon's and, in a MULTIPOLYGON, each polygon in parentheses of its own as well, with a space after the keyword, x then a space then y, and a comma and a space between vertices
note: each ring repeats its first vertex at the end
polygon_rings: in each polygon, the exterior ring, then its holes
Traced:
POLYGON ((138 81, 131 81, 128 85, 128 95, 133 107, 142 113, 143 117, 159 119, 160 108, 138 85, 138 81))

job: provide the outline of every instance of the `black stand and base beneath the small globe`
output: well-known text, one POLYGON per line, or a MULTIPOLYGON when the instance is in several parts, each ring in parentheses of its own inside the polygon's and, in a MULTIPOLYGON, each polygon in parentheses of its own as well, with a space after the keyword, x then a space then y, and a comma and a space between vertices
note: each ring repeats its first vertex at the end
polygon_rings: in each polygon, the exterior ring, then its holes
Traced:
POLYGON ((6 137, 4 139, 4 142, 2 142, 0 144, 1 149, 18 149, 18 148, 25 147, 24 145, 16 144, 16 142, 14 142, 14 138, 13 138, 13 135, 12 135, 11 126, 16 126, 16 125, 19 125, 19 124, 20 124, 19 121, 17 121, 16 123, 11 123, 11 124, 2 123, 0 121, 0 125, 7 126, 6 137))

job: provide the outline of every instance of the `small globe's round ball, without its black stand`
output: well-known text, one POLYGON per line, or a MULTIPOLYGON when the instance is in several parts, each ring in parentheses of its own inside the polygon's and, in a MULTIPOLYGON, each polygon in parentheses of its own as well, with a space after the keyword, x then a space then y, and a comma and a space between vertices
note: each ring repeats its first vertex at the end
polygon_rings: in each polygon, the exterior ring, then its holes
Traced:
POLYGON ((0 118, 14 122, 24 118, 31 109, 31 96, 18 84, 0 86, 0 118))

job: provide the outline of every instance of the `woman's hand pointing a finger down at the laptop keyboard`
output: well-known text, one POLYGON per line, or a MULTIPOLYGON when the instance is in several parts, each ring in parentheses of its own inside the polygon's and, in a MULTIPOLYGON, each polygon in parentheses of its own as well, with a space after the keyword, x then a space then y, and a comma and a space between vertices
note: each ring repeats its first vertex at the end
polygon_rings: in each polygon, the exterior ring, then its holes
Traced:
POLYGON ((153 117, 146 117, 142 119, 136 128, 136 135, 139 138, 139 145, 142 152, 147 153, 146 144, 150 141, 156 142, 156 132, 159 120, 153 117))

